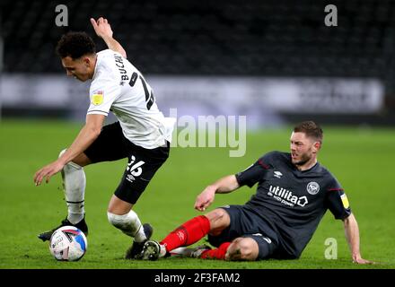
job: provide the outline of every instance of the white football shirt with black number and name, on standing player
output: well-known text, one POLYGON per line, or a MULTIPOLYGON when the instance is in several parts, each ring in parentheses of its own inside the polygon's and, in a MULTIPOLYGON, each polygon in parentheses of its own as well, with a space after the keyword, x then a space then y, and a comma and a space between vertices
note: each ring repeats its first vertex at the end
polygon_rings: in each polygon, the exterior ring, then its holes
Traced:
POLYGON ((126 58, 110 49, 97 53, 87 114, 119 120, 127 139, 145 149, 171 142, 175 118, 164 117, 158 109, 151 86, 126 58))

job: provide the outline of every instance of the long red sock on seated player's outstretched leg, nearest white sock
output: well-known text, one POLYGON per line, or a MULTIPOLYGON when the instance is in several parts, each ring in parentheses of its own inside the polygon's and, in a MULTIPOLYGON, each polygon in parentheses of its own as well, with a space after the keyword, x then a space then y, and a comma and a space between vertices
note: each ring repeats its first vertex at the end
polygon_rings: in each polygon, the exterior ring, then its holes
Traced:
POLYGON ((170 252, 172 249, 198 242, 208 231, 210 231, 210 221, 206 216, 199 215, 172 230, 160 243, 165 246, 167 252, 170 252))

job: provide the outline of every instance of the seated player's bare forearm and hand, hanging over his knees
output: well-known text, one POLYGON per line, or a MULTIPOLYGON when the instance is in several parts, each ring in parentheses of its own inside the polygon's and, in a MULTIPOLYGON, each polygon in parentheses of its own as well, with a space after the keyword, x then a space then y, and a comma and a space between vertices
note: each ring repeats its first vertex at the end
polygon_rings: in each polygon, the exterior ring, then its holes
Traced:
POLYGON ((206 207, 214 202, 215 194, 227 194, 239 187, 239 183, 234 175, 220 178, 198 195, 195 202, 195 209, 203 212, 206 210, 206 207))

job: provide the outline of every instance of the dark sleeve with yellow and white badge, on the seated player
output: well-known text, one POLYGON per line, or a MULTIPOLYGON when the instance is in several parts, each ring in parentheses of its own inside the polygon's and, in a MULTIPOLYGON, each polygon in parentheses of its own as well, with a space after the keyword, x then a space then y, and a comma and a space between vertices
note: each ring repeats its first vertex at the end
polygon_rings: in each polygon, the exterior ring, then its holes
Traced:
POLYGON ((350 204, 343 188, 336 180, 327 189, 327 205, 335 219, 346 219, 351 214, 350 204))

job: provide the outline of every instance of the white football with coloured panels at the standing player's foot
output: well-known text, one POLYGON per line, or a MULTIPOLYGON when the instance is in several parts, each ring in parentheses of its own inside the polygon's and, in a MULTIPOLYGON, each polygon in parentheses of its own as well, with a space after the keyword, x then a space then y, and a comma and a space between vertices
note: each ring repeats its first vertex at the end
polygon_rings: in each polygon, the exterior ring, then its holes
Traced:
POLYGON ((49 240, 49 251, 59 261, 80 260, 87 247, 85 234, 74 226, 60 227, 49 240))

